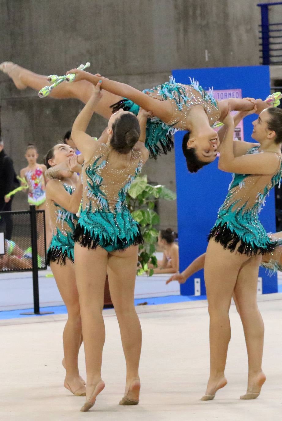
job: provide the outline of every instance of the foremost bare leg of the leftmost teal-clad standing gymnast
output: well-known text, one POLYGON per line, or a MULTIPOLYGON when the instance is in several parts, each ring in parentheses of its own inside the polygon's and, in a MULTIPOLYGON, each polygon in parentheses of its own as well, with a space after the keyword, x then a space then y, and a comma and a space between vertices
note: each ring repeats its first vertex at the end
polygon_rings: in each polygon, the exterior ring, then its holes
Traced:
POLYGON ((66 364, 65 387, 79 396, 85 396, 85 387, 79 376, 78 353, 82 338, 82 325, 79 308, 79 297, 74 275, 74 264, 66 259, 66 265, 61 266, 51 262, 58 290, 68 310, 68 321, 63 331, 63 351, 66 364), (67 387, 69 386, 69 387, 67 387))

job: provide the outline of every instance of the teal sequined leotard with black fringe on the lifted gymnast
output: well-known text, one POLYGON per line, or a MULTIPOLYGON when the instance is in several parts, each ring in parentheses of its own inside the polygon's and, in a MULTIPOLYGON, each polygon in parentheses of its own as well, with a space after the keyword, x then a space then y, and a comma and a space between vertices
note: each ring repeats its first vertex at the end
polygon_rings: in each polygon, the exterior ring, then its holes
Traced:
MULTIPOLYGON (((219 119, 219 106, 213 97, 213 90, 205 91, 194 79, 191 80, 191 85, 182 85, 175 83, 173 77, 170 77, 169 82, 152 89, 144 89, 143 92, 148 92, 150 96, 161 101, 168 100, 172 107, 173 114, 168 122, 164 123, 157 117, 147 120, 145 146, 150 152, 150 157, 155 159, 161 153, 166 154, 171 151, 173 147, 171 136, 177 130, 187 130, 187 116, 194 105, 201 105, 206 110, 211 126, 219 119)), ((111 107, 113 112, 122 108, 135 115, 140 108, 128 99, 123 99, 111 107)))

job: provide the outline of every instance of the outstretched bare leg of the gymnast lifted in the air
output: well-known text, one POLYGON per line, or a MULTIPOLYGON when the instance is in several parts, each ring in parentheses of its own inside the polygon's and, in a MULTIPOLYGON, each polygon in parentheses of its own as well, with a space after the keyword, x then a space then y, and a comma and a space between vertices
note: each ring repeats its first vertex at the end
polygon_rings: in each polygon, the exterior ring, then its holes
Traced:
MULTIPOLYGON (((47 76, 38 75, 37 73, 24 69, 24 67, 20 67, 12 62, 0 64, 0 70, 13 79, 13 82, 18 89, 29 87, 35 91, 40 91, 44 86, 50 85, 50 83, 47 82, 47 76)), ((50 96, 57 99, 79 99, 79 101, 86 104, 91 96, 92 90, 93 85, 92 83, 87 82, 87 80, 80 80, 76 83, 63 82, 52 90, 50 96)), ((109 108, 110 105, 115 104, 121 99, 122 97, 119 95, 104 91, 102 99, 95 108, 95 112, 102 117, 109 119, 112 113, 111 108, 109 108)))

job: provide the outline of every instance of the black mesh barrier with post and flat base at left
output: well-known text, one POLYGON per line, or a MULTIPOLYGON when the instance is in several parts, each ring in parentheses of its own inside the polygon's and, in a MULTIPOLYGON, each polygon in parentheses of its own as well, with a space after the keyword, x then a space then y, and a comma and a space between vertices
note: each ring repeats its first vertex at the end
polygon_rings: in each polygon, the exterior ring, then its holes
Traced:
POLYGON ((0 212, 0 250, 0 273, 32 271, 34 312, 21 314, 51 314, 40 312, 39 305, 38 270, 47 268, 45 211, 30 205, 0 212))

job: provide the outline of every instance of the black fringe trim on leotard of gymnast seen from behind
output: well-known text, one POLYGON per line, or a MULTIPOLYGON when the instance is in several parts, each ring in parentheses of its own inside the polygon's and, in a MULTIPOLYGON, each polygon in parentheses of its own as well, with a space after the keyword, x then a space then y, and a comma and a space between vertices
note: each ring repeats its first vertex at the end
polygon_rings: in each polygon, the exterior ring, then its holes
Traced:
MULTIPOLYGON (((100 245, 102 248, 110 247, 113 245, 113 241, 107 241, 104 237, 101 239, 99 235, 97 237, 93 237, 88 229, 84 231, 84 228, 80 224, 77 224, 74 230, 74 241, 78 242, 82 247, 87 247, 88 249, 97 248, 98 245, 100 245)), ((117 237, 115 250, 123 250, 130 245, 139 244, 144 244, 144 239, 140 232, 140 227, 138 226, 138 233, 137 236, 134 237, 133 242, 129 242, 127 238, 120 239, 117 237)))

